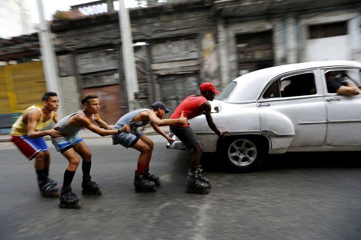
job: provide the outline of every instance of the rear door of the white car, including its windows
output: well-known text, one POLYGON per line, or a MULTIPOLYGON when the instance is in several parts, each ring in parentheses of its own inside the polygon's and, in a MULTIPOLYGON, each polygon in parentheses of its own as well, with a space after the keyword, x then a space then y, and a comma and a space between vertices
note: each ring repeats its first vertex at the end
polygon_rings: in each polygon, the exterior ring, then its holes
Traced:
MULTIPOLYGON (((272 80, 257 106, 261 129, 269 128, 269 114, 282 114, 293 124, 295 136, 290 147, 322 146, 326 137, 326 107, 317 70, 285 74, 272 80), (318 81, 317 81, 318 80, 318 81)), ((277 134, 277 133, 276 133, 277 134)))

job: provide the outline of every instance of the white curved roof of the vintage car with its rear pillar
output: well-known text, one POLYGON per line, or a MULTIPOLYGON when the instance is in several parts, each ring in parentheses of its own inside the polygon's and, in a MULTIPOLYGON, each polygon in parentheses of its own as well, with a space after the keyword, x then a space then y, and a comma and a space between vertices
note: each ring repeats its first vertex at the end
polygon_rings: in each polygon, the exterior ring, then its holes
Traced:
POLYGON ((357 61, 337 60, 337 61, 317 61, 302 62, 276 67, 264 68, 248 74, 237 77, 232 82, 237 82, 237 86, 232 94, 226 99, 227 102, 249 102, 256 101, 260 96, 264 86, 273 78, 281 74, 307 69, 323 67, 361 67, 357 61))

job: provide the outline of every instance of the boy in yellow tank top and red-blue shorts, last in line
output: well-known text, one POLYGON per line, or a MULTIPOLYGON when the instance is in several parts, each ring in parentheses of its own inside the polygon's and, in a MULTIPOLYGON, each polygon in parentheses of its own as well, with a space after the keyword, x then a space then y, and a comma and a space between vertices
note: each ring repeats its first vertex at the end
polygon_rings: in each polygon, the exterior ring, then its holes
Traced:
POLYGON ((40 192, 44 196, 59 196, 57 183, 49 175, 50 154, 44 136, 54 138, 61 136, 56 128, 40 131, 48 126, 52 120, 59 121, 59 99, 55 92, 45 92, 41 98, 43 107, 33 105, 27 108, 11 127, 11 141, 30 161, 35 158, 35 170, 38 175, 40 192))

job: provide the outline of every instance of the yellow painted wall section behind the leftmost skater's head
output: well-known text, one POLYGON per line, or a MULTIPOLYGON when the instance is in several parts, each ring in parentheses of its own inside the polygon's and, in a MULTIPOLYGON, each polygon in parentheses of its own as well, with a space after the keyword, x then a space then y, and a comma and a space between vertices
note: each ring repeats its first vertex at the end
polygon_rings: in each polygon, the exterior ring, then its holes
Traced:
POLYGON ((41 61, 0 67, 0 82, 0 114, 42 105, 46 86, 41 61))

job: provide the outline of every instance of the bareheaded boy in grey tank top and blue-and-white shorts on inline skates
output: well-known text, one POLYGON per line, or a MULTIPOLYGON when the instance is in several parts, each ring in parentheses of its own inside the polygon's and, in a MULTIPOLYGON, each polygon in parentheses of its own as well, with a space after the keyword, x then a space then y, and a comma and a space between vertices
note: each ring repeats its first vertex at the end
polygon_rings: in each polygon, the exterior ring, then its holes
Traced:
POLYGON ((57 123, 58 130, 62 133, 61 138, 52 138, 52 143, 55 148, 68 160, 69 165, 64 172, 64 182, 60 192, 60 207, 79 208, 80 197, 72 192, 71 182, 73 181, 75 171, 79 166, 79 158, 77 153, 82 158, 81 170, 83 172, 83 181, 81 183, 82 194, 101 194, 100 185, 91 181, 90 167, 91 156, 88 147, 81 139, 79 134, 80 129, 87 128, 100 136, 112 135, 118 132, 128 132, 130 127, 123 126, 121 129, 112 129, 114 126, 109 126, 104 122, 99 111, 99 99, 94 93, 85 94, 80 100, 84 106, 84 110, 70 114, 57 123), (100 127, 93 124, 96 122, 100 127))

